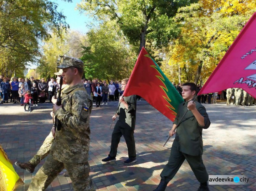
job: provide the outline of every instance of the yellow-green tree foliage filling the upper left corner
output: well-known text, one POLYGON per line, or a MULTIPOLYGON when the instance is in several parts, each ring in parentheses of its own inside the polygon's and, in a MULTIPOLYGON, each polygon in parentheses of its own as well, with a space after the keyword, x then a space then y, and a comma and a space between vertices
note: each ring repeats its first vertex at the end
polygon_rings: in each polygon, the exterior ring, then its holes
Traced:
POLYGON ((57 4, 49 0, 0 0, 0 73, 36 62, 39 43, 50 37, 48 32, 68 27, 57 4))

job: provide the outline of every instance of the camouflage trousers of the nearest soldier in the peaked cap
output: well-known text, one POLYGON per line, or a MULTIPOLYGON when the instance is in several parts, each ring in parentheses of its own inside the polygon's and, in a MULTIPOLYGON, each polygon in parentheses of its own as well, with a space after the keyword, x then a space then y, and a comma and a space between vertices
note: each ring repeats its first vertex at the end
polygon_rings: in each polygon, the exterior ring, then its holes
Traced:
POLYGON ((88 162, 80 164, 67 164, 55 160, 52 155, 48 155, 43 166, 32 178, 28 191, 43 191, 63 170, 67 169, 74 191, 95 191, 89 176, 90 166, 88 162))

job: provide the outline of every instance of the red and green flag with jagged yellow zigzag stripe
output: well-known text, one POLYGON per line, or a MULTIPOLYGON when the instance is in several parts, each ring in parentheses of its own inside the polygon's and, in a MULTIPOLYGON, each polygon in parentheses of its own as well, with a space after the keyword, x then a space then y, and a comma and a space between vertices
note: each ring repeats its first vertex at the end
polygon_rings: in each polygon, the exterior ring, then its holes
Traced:
POLYGON ((178 106, 184 102, 155 60, 143 47, 124 91, 124 96, 139 95, 174 121, 178 106))

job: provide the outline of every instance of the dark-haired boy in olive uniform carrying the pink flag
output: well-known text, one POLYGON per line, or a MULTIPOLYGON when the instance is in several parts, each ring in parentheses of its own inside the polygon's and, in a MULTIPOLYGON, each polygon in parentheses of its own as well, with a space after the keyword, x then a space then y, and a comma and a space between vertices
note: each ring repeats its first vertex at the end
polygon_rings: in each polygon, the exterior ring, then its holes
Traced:
POLYGON ((200 182, 198 190, 209 190, 207 185, 209 176, 202 160, 202 129, 207 129, 211 122, 205 108, 200 103, 192 101, 196 92, 196 84, 183 84, 182 97, 185 102, 179 105, 178 114, 173 122, 173 127, 169 132, 170 136, 175 134, 177 124, 180 122, 185 112, 187 110, 189 111, 177 127, 169 161, 163 168, 160 174, 161 181, 154 191, 165 191, 167 184, 175 176, 185 159, 193 170, 197 180, 200 182))

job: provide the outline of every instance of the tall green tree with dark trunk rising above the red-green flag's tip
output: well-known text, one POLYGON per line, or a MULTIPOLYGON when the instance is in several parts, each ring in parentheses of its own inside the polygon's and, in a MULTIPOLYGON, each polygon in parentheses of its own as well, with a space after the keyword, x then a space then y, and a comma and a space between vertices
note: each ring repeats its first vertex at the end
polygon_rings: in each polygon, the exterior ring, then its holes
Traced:
POLYGON ((140 47, 140 51, 146 40, 156 47, 167 46, 179 34, 170 18, 179 7, 190 3, 190 0, 82 0, 78 7, 100 21, 115 21, 129 43, 140 47))

